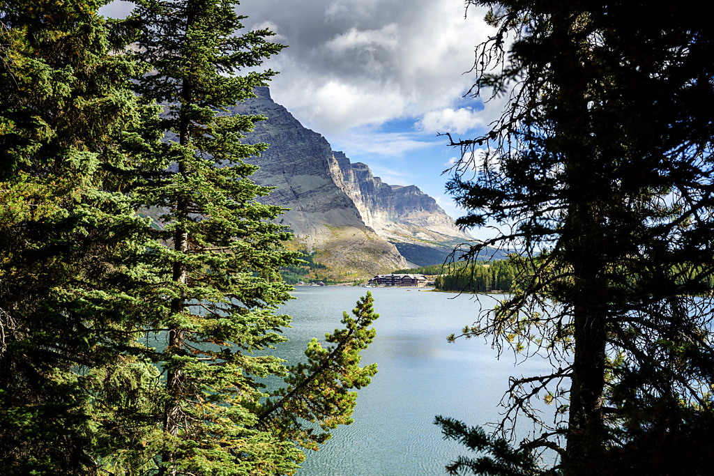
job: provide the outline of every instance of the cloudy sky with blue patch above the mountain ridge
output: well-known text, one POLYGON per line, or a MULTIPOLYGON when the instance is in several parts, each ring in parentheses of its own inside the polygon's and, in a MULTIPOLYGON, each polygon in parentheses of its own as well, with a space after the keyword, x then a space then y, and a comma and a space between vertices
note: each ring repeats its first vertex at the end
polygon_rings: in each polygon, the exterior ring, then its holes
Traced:
MULTIPOLYGON (((102 13, 129 10, 114 1, 102 13)), ((288 46, 265 64, 280 71, 274 101, 386 183, 416 185, 462 214, 441 174, 458 150, 437 133, 471 138, 500 110, 463 97, 475 46, 491 32, 483 11, 465 18, 463 0, 243 0, 238 11, 288 46)))

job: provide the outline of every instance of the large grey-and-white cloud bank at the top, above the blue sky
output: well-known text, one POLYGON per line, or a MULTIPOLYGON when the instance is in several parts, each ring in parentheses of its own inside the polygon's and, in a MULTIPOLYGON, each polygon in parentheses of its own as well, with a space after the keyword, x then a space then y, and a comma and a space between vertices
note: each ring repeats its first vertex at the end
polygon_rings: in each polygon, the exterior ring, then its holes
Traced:
POLYGON ((464 19, 463 0, 246 0, 241 9, 284 36, 288 48, 266 63, 281 71, 271 94, 321 133, 426 113, 428 133, 490 121, 488 108, 456 106, 473 83, 474 47, 491 32, 481 10, 464 19))

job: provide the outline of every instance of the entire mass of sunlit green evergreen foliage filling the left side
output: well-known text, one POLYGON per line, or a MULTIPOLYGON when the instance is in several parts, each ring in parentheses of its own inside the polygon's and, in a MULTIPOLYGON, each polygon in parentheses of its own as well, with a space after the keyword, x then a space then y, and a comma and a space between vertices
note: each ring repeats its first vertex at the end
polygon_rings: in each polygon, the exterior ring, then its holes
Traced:
POLYGON ((368 297, 335 349, 311 345, 308 380, 253 353, 285 340, 277 270, 298 253, 242 161, 260 118, 221 111, 273 73, 231 74, 281 46, 226 1, 111 25, 99 6, 0 1, 3 472, 292 474, 297 443, 351 421, 376 315, 368 297), (293 374, 299 391, 263 390, 293 374), (321 433, 296 422, 305 397, 321 433))

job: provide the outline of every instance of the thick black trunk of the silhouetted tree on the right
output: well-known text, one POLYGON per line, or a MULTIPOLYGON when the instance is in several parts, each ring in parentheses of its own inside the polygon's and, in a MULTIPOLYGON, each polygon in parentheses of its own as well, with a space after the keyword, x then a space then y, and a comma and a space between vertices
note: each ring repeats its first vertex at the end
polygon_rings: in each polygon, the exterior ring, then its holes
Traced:
POLYGON ((607 226, 609 183, 600 166, 596 144, 588 143, 590 123, 590 44, 579 29, 587 19, 554 19, 558 61, 553 63, 559 86, 553 110, 565 165, 568 218, 563 233, 565 262, 573 280, 565 302, 572 305, 573 365, 563 474, 600 474, 605 447, 603 398, 608 283, 607 226), (578 100, 579 98, 579 100, 578 100))

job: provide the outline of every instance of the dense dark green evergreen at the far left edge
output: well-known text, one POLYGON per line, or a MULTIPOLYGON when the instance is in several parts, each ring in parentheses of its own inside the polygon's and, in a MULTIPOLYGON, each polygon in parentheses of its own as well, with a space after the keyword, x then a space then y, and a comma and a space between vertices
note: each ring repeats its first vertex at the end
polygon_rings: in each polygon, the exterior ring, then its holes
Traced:
POLYGON ((132 409, 156 376, 131 352, 137 303, 125 293, 147 223, 119 193, 127 165, 120 134, 139 119, 128 78, 141 71, 112 53, 121 38, 109 44, 96 14, 102 4, 0 1, 0 455, 8 475, 90 475, 104 455, 139 445, 132 409))

